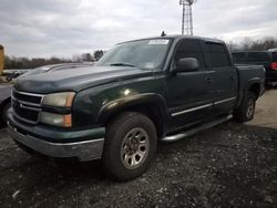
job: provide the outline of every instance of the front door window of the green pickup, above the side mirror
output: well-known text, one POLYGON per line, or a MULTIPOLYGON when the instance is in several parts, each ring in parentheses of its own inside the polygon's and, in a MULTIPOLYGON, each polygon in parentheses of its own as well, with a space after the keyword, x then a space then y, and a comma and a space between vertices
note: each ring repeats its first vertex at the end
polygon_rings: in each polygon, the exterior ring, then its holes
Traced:
POLYGON ((177 48, 174 60, 177 61, 184 58, 195 58, 198 60, 201 69, 206 66, 202 48, 198 41, 196 40, 185 40, 181 42, 177 48))

